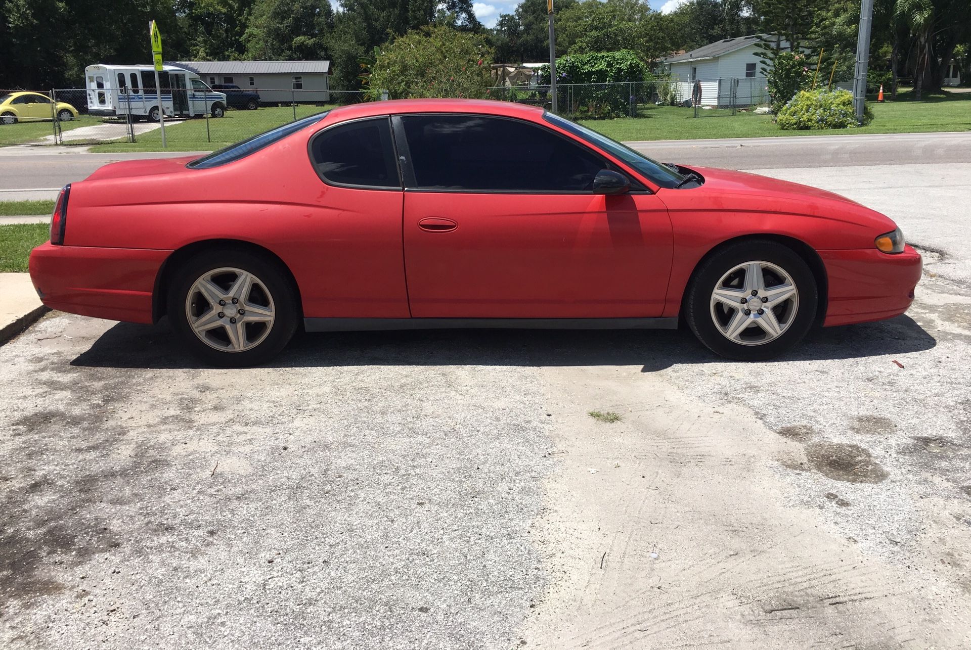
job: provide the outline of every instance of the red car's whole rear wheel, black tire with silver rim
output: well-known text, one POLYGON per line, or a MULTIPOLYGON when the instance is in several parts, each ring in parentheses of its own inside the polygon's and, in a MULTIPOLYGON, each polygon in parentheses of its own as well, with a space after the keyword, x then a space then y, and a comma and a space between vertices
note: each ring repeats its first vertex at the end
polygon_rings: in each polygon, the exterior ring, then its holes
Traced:
POLYGON ((170 283, 173 328, 197 356, 239 368, 278 354, 297 327, 297 298, 277 264, 220 248, 188 259, 170 283))

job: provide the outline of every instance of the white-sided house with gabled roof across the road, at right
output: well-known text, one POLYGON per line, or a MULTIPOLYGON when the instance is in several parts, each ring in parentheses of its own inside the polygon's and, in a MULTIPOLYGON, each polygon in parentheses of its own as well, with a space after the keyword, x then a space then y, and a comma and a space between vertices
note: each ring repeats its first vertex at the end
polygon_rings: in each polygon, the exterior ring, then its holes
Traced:
MULTIPOLYGON (((762 38, 773 37, 753 34, 724 39, 664 59, 675 82, 678 100, 690 99, 695 82, 700 82, 702 106, 731 106, 733 86, 736 106, 767 103, 765 74, 757 56, 757 44, 762 38)), ((779 45, 785 48, 788 44, 782 41, 779 45)))

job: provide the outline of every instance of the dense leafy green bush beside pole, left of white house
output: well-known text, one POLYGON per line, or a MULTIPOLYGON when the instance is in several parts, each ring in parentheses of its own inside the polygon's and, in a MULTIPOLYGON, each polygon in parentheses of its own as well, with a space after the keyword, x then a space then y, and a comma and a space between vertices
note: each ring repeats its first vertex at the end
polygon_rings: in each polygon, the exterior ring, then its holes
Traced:
MULTIPOLYGON (((550 83, 550 66, 541 66, 540 83, 550 83)), ((568 54, 556 59, 556 82, 576 83, 569 92, 559 94, 567 99, 569 113, 589 117, 615 117, 630 112, 637 88, 624 82, 645 81, 647 66, 629 49, 613 52, 568 54), (634 93, 630 91, 634 90, 634 93)))

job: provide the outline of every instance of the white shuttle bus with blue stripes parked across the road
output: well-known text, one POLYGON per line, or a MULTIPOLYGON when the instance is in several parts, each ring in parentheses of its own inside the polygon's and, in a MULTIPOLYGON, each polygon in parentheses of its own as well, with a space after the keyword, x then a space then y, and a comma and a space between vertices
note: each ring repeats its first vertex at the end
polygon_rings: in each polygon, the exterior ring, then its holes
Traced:
POLYGON ((200 117, 226 113, 226 96, 203 83, 194 72, 163 66, 158 73, 162 94, 155 89, 151 65, 89 65, 84 68, 87 112, 92 115, 124 115, 158 121, 167 117, 200 117))

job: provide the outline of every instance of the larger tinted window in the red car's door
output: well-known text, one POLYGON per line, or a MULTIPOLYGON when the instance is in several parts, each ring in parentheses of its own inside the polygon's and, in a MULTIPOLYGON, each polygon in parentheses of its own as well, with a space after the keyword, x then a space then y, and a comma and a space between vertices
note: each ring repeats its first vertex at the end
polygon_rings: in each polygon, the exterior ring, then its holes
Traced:
POLYGON ((606 161, 551 130, 485 115, 404 115, 416 186, 589 191, 606 161))

